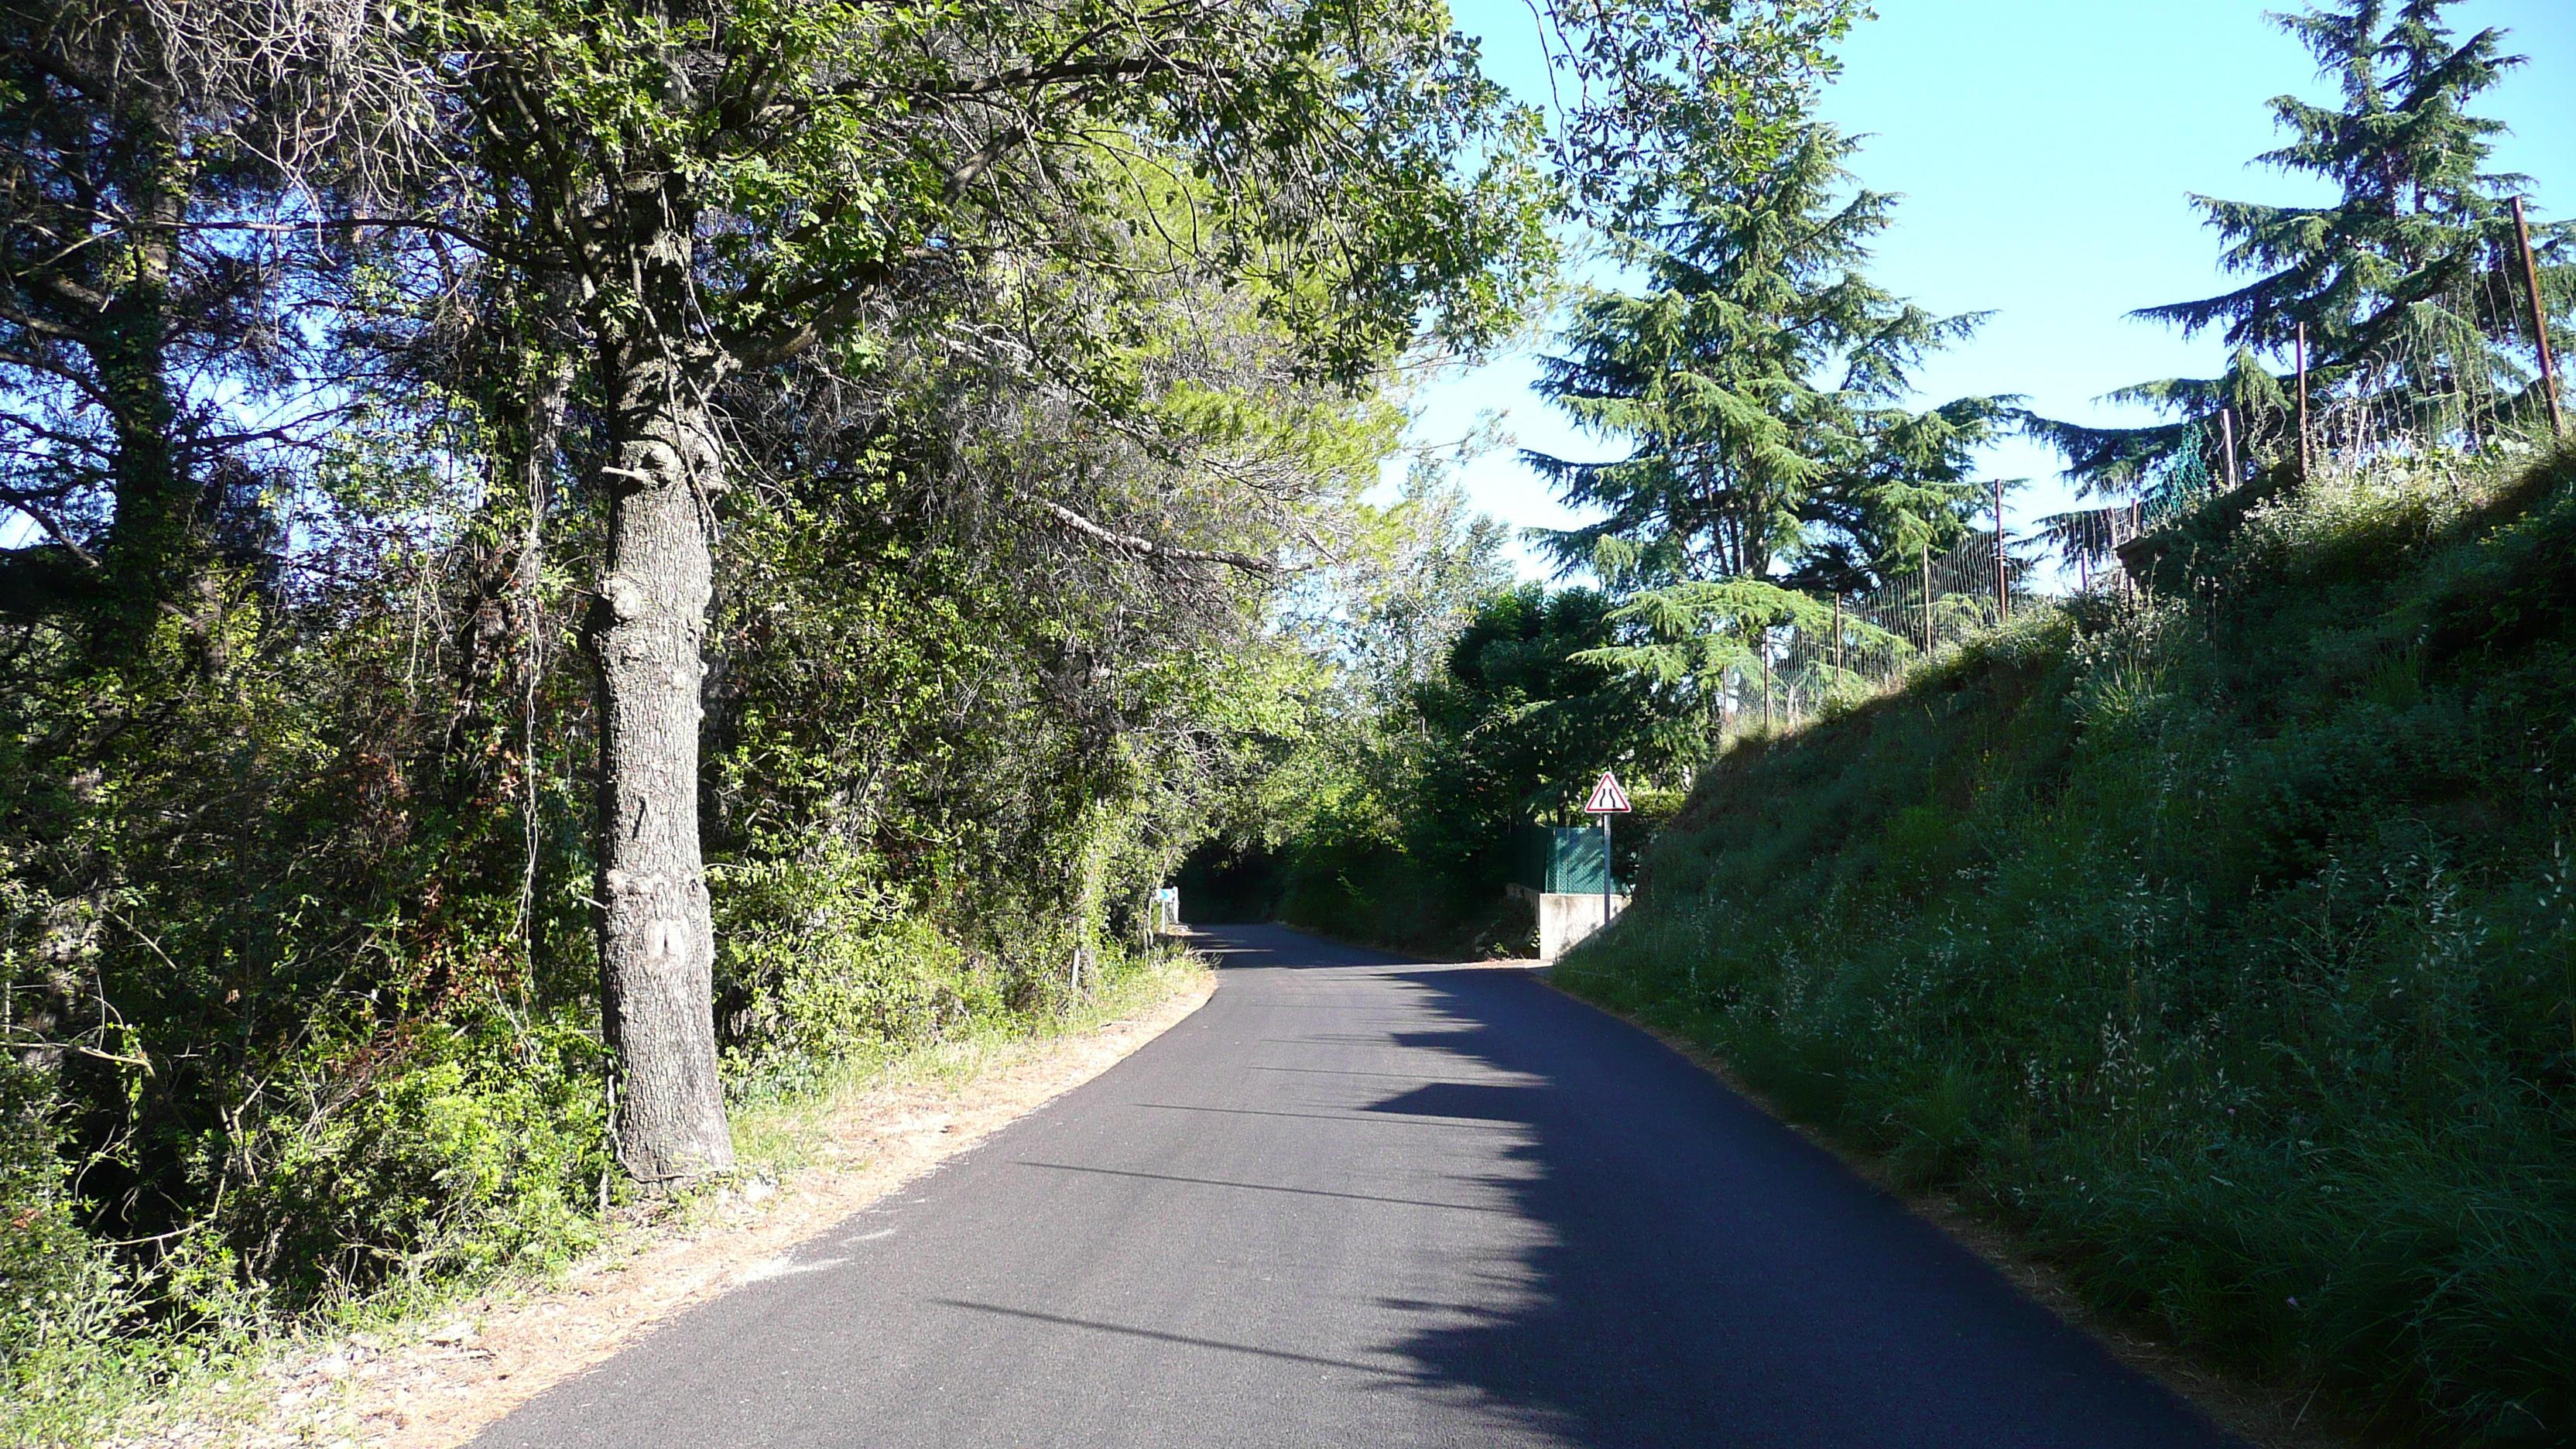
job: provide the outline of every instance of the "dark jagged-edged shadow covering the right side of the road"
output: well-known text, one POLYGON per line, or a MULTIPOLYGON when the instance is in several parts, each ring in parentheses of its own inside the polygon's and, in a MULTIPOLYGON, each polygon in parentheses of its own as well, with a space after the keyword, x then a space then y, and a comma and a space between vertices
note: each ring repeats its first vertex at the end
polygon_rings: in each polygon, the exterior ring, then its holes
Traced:
POLYGON ((1525 1137, 1492 1183, 1540 1227, 1520 1307, 1381 1299, 1437 1315, 1388 1346, 1435 1392, 1605 1449, 2233 1444, 1641 1031, 1525 972, 1396 980, 1453 1024, 1401 1044, 1538 1083, 1368 1106, 1525 1137))

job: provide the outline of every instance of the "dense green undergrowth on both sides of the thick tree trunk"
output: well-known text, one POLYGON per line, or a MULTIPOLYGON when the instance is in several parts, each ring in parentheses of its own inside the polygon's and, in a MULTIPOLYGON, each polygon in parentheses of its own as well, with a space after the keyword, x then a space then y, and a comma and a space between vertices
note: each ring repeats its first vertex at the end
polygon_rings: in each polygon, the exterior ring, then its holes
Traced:
MULTIPOLYGON (((64 629, 0 650, 0 1385, 36 1395, 0 1441, 80 1441, 368 1294, 556 1263, 621 1194, 577 614, 541 580, 495 650, 435 616, 479 523, 361 523, 327 559, 350 588, 237 578, 126 670, 64 629)), ((837 523, 853 549, 907 526, 837 523)), ((953 580, 762 557, 822 580, 719 614, 729 1091, 1061 1018, 1195 828, 1226 745, 1195 722, 1249 686, 1064 683, 1077 621, 966 624, 920 598, 953 580)))

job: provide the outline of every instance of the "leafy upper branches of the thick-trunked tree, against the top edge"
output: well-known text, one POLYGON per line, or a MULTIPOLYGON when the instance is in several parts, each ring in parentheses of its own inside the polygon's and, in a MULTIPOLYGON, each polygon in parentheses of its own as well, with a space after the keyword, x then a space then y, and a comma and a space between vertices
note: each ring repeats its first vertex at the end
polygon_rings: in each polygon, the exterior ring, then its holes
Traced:
MULTIPOLYGON (((1023 302, 1056 376, 1115 410, 1136 382, 1121 353, 1170 281, 1123 266, 1151 235, 1167 263, 1247 284, 1314 371, 1363 379, 1425 327, 1492 340, 1540 276, 1515 263, 1551 255, 1535 113, 1417 0, 456 0, 425 5, 412 39, 459 83, 456 144, 492 168, 492 219, 523 232, 505 250, 595 271, 600 335, 644 335, 659 299, 598 268, 611 232, 574 180, 618 209, 631 178, 670 211, 621 214, 618 240, 703 211, 706 333, 755 366, 881 348, 904 327, 866 325, 863 302, 951 273, 958 248, 1079 276, 1079 302, 1023 302)), ((930 325, 956 294, 909 302, 904 322, 930 325)))

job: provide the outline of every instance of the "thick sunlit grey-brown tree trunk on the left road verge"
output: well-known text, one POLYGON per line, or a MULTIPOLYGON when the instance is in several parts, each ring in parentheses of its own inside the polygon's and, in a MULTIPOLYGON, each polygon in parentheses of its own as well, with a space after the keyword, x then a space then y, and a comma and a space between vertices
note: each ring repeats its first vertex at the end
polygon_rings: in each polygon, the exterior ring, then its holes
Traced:
POLYGON ((734 1160, 716 1078, 716 931, 698 853, 698 650, 714 572, 706 521, 721 490, 698 387, 716 358, 680 345, 636 327, 603 348, 616 462, 603 469, 608 572, 587 629, 600 670, 598 900, 613 1132, 618 1160, 647 1186, 734 1160))

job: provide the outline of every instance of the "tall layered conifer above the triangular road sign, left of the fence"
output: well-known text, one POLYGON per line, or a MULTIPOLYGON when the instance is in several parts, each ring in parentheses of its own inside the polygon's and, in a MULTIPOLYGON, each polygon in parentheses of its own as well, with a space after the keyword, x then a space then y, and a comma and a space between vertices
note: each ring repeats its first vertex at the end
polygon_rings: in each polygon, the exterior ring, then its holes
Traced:
POLYGON ((1844 196, 1852 150, 1806 124, 1772 165, 1690 193, 1636 242, 1641 294, 1582 297, 1538 389, 1631 451, 1525 454, 1566 503, 1607 511, 1548 539, 1561 562, 1631 585, 1826 562, 1865 575, 1965 529, 1968 454, 2014 400, 1901 407, 1914 366, 1984 315, 1935 317, 1862 276, 1893 199, 1844 196))

